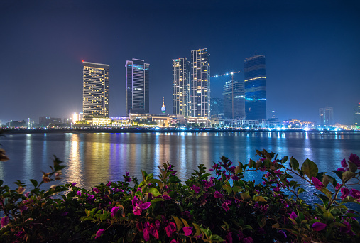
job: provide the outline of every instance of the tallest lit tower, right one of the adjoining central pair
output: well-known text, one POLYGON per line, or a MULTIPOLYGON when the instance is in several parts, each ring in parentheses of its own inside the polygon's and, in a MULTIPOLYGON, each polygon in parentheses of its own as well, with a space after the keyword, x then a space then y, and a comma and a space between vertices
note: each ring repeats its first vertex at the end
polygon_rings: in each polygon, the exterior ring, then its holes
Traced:
POLYGON ((191 51, 190 116, 210 117, 210 54, 191 51))

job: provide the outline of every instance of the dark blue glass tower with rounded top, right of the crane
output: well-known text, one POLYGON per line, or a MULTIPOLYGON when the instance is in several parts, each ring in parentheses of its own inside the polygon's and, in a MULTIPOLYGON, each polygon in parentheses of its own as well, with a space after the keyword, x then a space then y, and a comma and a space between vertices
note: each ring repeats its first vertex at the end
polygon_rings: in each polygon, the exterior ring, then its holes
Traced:
POLYGON ((266 119, 265 56, 254 55, 244 61, 245 110, 248 120, 266 119))

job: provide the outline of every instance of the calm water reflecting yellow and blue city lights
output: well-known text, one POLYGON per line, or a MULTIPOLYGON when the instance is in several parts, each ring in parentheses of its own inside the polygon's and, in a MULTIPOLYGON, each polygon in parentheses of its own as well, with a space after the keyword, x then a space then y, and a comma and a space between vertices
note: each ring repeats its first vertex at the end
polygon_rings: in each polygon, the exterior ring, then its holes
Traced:
MULTIPOLYGON (((28 179, 41 180, 41 171, 50 171, 53 155, 67 166, 57 183, 76 182, 84 188, 124 180, 127 171, 141 180, 141 169, 158 174, 158 166, 166 161, 184 181, 200 163, 209 168, 222 155, 235 165, 248 163, 258 158, 255 150, 263 148, 279 158, 294 156, 300 164, 309 158, 319 171, 336 170, 350 153, 360 155, 360 134, 344 132, 10 134, 0 143, 10 158, 0 163, 0 180, 13 187, 15 180, 27 185, 28 179)), ((246 174, 246 180, 260 178, 257 172, 246 174)))

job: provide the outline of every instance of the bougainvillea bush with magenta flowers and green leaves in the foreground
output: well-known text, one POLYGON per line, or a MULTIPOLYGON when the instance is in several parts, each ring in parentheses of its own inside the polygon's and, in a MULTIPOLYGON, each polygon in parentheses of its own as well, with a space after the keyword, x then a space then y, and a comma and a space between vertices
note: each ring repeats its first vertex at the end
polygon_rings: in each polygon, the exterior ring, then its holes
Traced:
POLYGON ((359 183, 358 156, 319 173, 308 159, 300 167, 293 157, 256 153, 257 161, 237 165, 222 156, 185 182, 163 163, 159 175, 142 171, 141 182, 126 173, 91 190, 75 182, 41 190, 61 179, 55 157, 33 188, 17 181, 11 190, 1 181, 0 242, 360 242, 357 212, 348 208, 360 202, 351 188, 359 183), (246 179, 248 171, 263 173, 262 183, 246 179), (317 202, 302 199, 305 183, 317 202))

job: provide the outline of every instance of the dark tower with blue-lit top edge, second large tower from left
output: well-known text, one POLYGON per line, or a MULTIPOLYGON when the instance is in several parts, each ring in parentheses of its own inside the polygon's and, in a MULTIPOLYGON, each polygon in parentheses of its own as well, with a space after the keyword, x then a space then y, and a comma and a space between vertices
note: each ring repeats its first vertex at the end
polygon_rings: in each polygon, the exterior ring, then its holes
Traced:
POLYGON ((126 61, 126 114, 149 113, 149 67, 144 60, 126 61))

